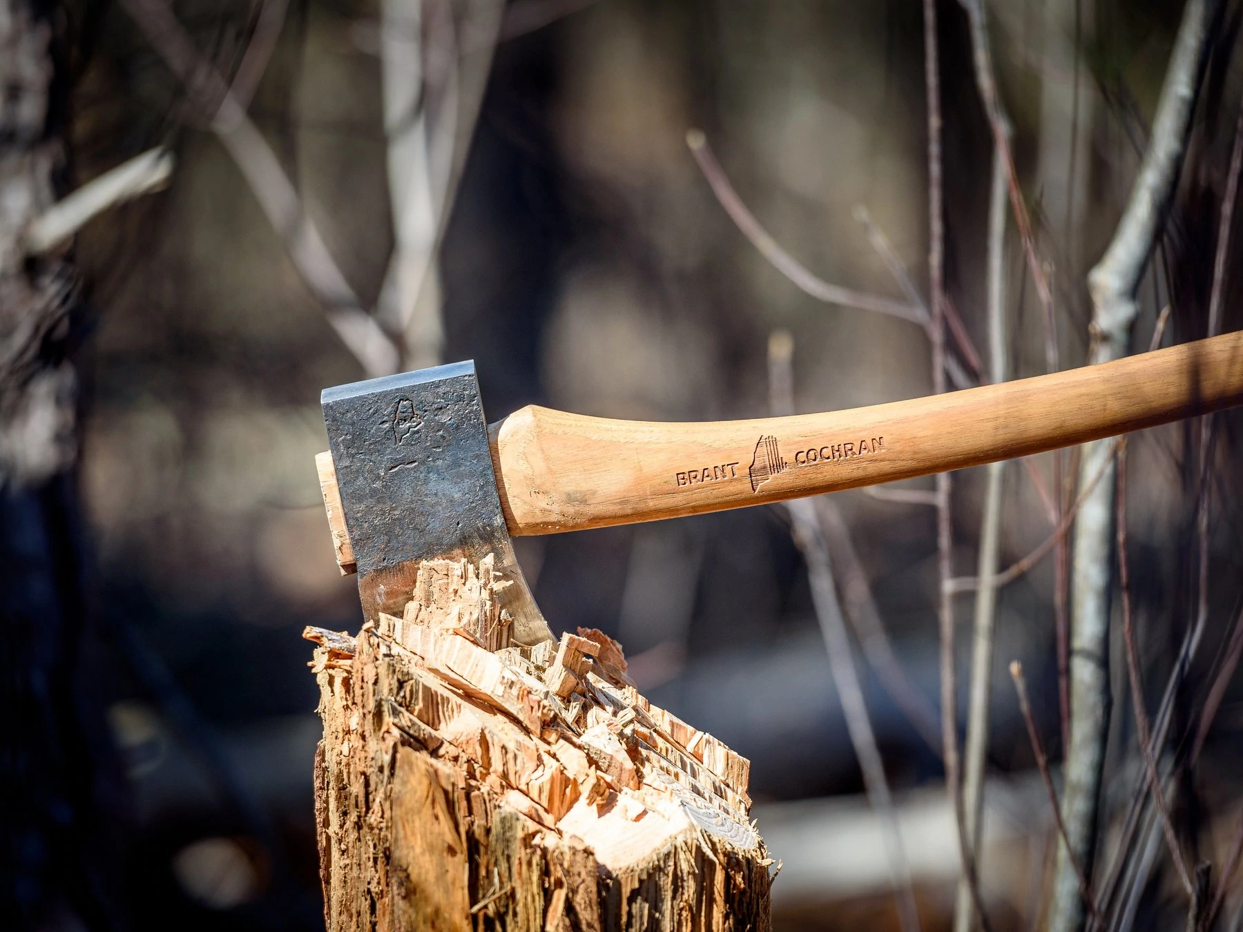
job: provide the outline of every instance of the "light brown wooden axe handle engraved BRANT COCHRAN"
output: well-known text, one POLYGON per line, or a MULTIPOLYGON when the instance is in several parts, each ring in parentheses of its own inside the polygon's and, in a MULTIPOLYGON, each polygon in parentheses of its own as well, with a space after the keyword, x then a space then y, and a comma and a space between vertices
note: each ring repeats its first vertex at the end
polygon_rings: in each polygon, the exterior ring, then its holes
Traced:
POLYGON ((674 424, 528 406, 491 425, 488 434, 501 506, 517 536, 892 482, 1238 404, 1243 404, 1243 332, 1081 369, 845 411, 674 424))

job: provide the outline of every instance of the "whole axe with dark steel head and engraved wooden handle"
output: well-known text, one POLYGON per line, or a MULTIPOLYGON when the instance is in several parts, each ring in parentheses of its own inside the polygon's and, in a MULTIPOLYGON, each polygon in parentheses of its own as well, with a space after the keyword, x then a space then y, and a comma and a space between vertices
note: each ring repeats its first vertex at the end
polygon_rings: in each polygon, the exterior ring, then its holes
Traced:
POLYGON ((513 637, 552 637, 511 536, 629 524, 892 482, 1243 404, 1243 332, 845 411, 718 423, 527 406, 484 420, 471 362, 323 391, 316 464, 363 614, 400 614, 419 563, 492 554, 513 637))

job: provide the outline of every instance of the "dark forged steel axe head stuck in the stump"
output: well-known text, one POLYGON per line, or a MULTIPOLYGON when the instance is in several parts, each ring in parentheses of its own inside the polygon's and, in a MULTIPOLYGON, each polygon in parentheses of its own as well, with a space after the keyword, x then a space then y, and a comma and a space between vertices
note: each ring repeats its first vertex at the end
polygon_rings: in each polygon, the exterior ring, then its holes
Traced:
POLYGON ((513 555, 472 362, 324 389, 363 615, 400 615, 419 563, 492 554, 513 639, 552 639, 513 555))

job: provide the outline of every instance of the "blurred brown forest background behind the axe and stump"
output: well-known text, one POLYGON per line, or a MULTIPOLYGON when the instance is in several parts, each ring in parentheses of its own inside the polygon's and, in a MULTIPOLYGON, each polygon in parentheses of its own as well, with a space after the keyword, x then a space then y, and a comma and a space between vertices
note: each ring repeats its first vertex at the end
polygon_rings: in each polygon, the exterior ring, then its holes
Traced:
MULTIPOLYGON (((970 15, 981 7, 935 6, 945 290, 961 321, 948 339, 958 373, 950 386, 989 380, 998 345, 1004 378, 1043 373, 1050 359, 1084 364, 1086 276, 1149 148, 1183 6, 988 4, 1018 191, 1054 309, 1050 331, 1003 198, 1009 219, 993 267, 1003 271, 1004 327, 992 342, 994 138, 970 15)), ((1167 306, 1162 344, 1209 328, 1243 7, 1207 6, 1207 65, 1131 352, 1149 347, 1167 306)), ((771 410, 771 363, 779 381, 787 353, 800 411, 935 386, 929 333, 892 312, 917 319, 930 306, 925 20, 915 0, 0 7, 0 34, 29 15, 51 48, 48 132, 63 143, 56 193, 154 147, 137 189, 162 189, 94 216, 72 251, 52 250, 81 283, 57 337, 77 372, 76 465, 71 452, 37 501, 5 505, 5 610, 10 630, 29 628, 10 639, 6 666, 35 671, 7 752, 19 779, 6 872, 30 927, 322 925, 311 782, 319 722, 300 634, 360 623, 312 462, 327 449, 322 388, 475 359, 490 420, 530 403, 735 419, 771 410), (689 130, 702 133, 691 133, 694 147, 689 130), (747 210, 774 242, 752 231, 757 250, 740 231, 747 210), (861 308, 827 282, 892 307, 861 308), (778 331, 789 339, 771 347, 778 331), (27 552, 29 522, 53 512, 60 537, 45 531, 60 543, 48 552, 72 553, 72 567, 56 572, 61 590, 76 593, 56 603, 55 624, 41 608, 46 593, 29 594, 39 554, 27 552), (53 734, 53 720, 81 731, 53 734), (42 763, 24 769, 31 747, 42 763), (71 777, 47 775, 56 773, 71 777)), ((5 152, 19 135, 0 139, 5 152)), ((1243 322, 1241 239, 1217 262, 1218 331, 1243 322)), ((1115 869, 1119 877, 1099 901, 1108 918, 1093 920, 1103 927, 1182 927, 1181 861, 1213 865, 1208 896, 1191 897, 1202 913, 1218 890, 1221 927, 1237 927, 1227 923, 1243 908, 1243 891, 1222 884, 1243 813, 1243 682, 1233 676, 1243 419, 1213 423, 1207 447, 1198 424, 1127 445, 1130 610, 1150 716, 1168 692, 1156 764, 1181 857, 1151 802, 1140 803, 1141 828, 1125 830, 1147 784, 1114 598, 1093 887, 1104 891, 1115 869), (1180 667, 1197 613, 1202 636, 1180 667)), ((1076 462, 1042 456, 998 471, 998 567, 1049 538, 1075 501, 1076 462)), ((10 485, 21 482, 10 475, 10 485)), ((986 487, 984 468, 953 477, 955 578, 977 573, 986 487)), ((933 490, 921 480, 846 492, 834 497, 837 518, 818 513, 919 916, 925 928, 948 928, 958 845, 936 711, 943 567, 933 490)), ((865 797, 787 511, 518 546, 554 630, 615 636, 653 702, 752 761, 755 815, 783 860, 777 927, 896 928, 886 815, 865 797)), ((1060 547, 1033 563, 998 589, 993 613, 976 862, 996 928, 1043 922, 1054 885, 1057 829, 1007 667, 1023 664, 1032 724, 1060 787, 1057 631, 1070 563, 1060 547)), ((1116 587, 1115 563, 1106 557, 1104 569, 1116 587)), ((963 728, 973 603, 970 592, 953 599, 963 728)), ((19 693, 22 675, 10 674, 19 693)))

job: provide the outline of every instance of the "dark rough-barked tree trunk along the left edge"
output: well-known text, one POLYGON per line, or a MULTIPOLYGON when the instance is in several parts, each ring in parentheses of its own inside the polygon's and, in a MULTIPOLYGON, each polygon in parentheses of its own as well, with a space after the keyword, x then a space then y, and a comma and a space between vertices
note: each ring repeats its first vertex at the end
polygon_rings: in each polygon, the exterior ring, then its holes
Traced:
POLYGON ((60 193, 67 82, 53 9, 0 0, 0 752, 6 927, 121 926, 118 761, 85 669, 97 655, 83 598, 72 345, 78 280, 65 249, 25 234, 60 193))

